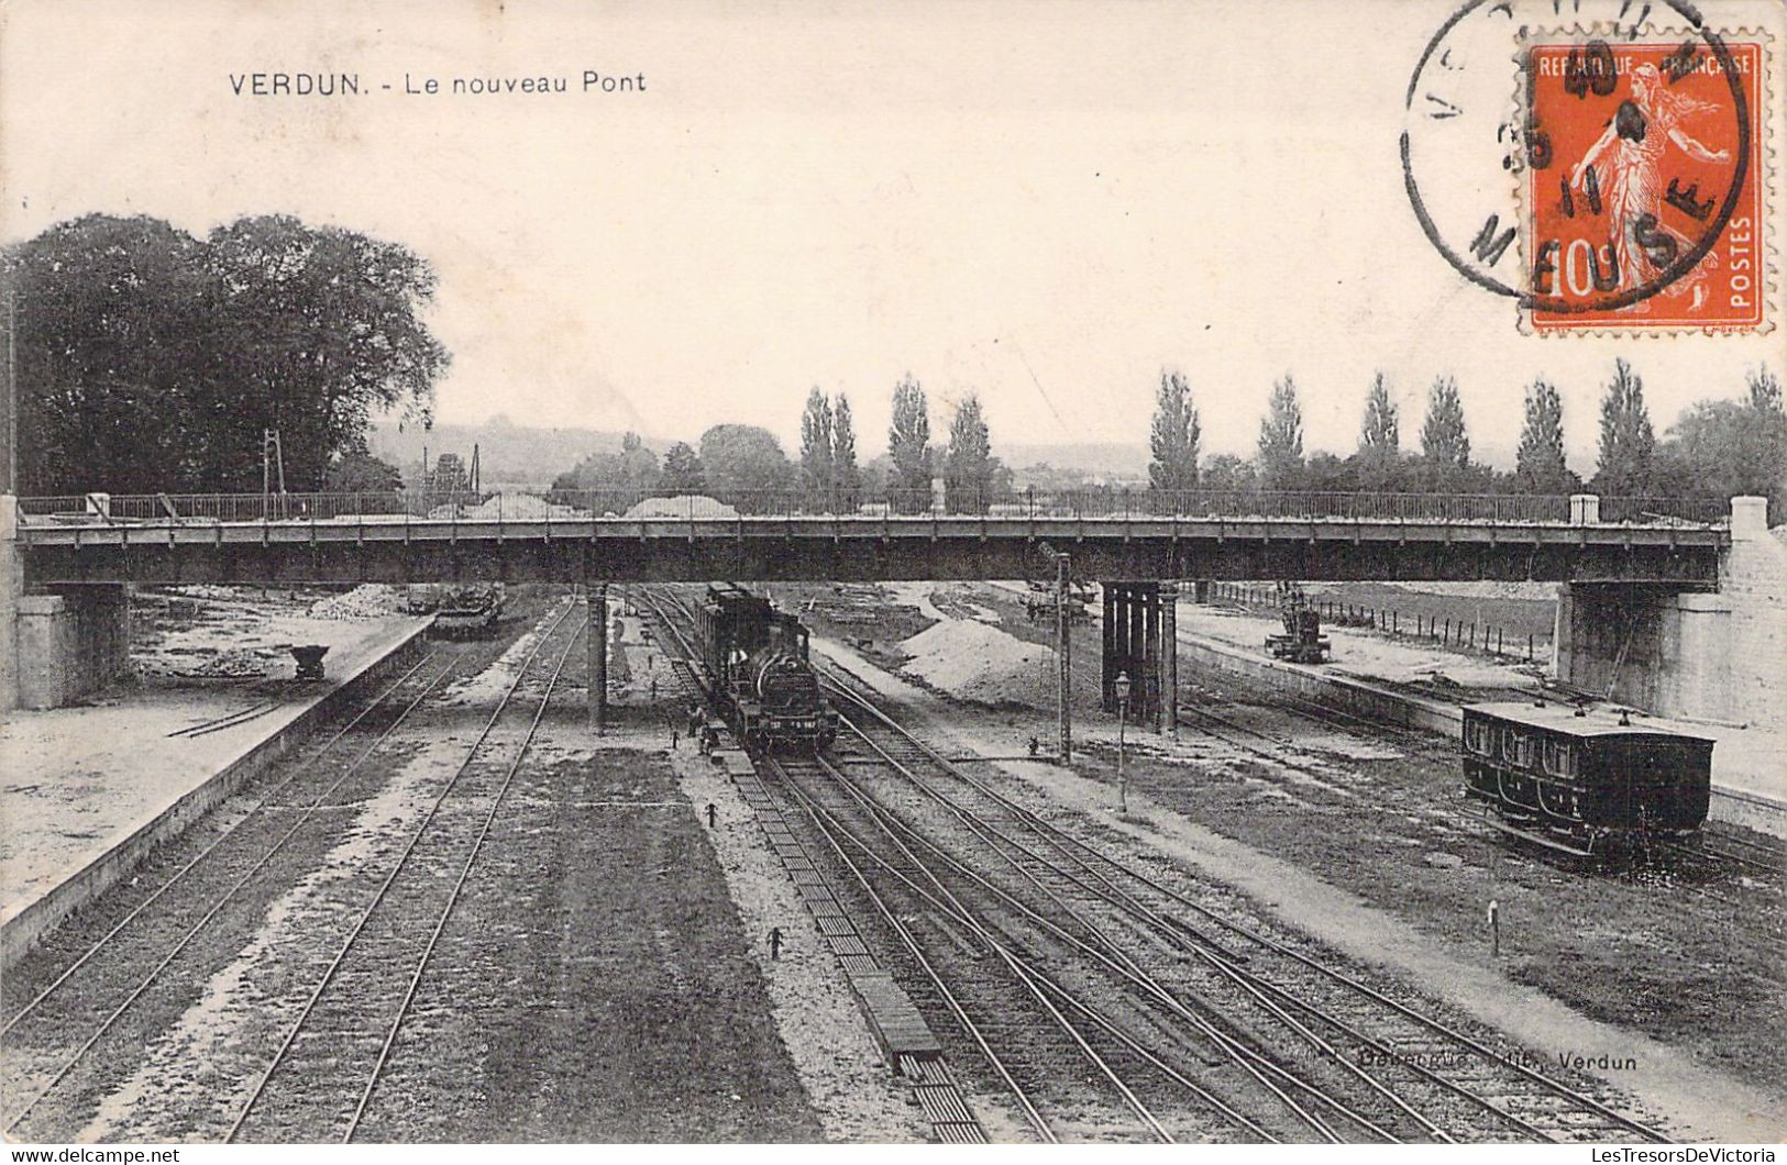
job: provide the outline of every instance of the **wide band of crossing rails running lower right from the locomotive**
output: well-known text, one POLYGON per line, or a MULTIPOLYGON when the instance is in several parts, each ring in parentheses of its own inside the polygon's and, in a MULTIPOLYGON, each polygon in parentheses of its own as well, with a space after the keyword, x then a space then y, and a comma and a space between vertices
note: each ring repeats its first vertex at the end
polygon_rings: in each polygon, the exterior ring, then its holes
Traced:
POLYGON ((1208 908, 1187 922, 1190 897, 833 691, 851 747, 767 767, 1040 1136, 1078 1070, 1104 1122, 1122 1110, 1156 1138, 1187 1110, 1201 1135, 1251 1140, 1664 1138, 1260 929, 1208 908), (1036 1022, 1008 1035, 1010 1015, 1036 1022))

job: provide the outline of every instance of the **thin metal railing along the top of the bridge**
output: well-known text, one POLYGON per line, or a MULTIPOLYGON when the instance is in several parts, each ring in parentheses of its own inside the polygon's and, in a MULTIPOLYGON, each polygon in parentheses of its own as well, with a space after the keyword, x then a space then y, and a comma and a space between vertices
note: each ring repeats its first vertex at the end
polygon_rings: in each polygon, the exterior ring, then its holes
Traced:
POLYGON ((1272 518, 1306 522, 1467 522, 1723 525, 1714 499, 1603 497, 1598 513, 1564 495, 1294 493, 1269 490, 540 490, 431 493, 148 493, 20 499, 27 525, 204 525, 243 522, 588 522, 768 518, 1272 518))

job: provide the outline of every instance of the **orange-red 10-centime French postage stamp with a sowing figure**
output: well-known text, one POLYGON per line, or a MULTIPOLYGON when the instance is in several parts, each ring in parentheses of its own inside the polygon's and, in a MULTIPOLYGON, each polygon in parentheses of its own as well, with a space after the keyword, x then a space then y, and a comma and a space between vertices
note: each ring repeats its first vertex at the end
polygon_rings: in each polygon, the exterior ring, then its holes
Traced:
POLYGON ((1523 38, 1528 331, 1767 331, 1760 38, 1523 38))

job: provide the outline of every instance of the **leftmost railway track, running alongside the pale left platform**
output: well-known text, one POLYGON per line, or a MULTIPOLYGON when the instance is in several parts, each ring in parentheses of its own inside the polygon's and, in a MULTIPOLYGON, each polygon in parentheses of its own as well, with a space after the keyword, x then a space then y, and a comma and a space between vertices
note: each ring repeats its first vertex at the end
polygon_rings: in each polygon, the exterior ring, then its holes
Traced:
POLYGON ((495 654, 486 645, 431 650, 252 804, 225 802, 193 829, 180 851, 197 852, 152 858, 141 888, 132 881, 79 927, 48 936, 7 981, 5 1094, 27 1099, 5 1115, 5 1129, 66 1138, 89 1120, 139 1065, 145 1042, 202 995, 209 976, 252 943, 268 906, 340 843, 343 811, 390 781, 393 738, 429 711, 445 683, 495 654), (88 938, 95 931, 100 936, 88 938))

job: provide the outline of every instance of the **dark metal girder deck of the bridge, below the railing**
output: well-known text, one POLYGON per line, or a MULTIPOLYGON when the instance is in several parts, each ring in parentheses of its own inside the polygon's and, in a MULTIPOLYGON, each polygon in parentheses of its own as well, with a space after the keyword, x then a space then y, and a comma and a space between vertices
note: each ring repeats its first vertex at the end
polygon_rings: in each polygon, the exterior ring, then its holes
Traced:
POLYGON ((216 520, 25 515, 32 581, 1028 577, 1576 579, 1708 584, 1730 532, 1562 522, 1246 515, 729 515, 216 520))

